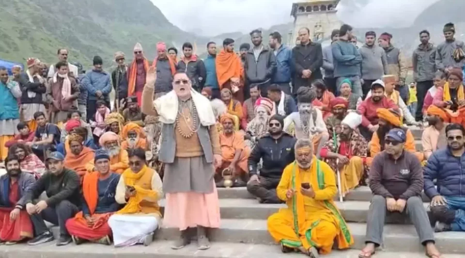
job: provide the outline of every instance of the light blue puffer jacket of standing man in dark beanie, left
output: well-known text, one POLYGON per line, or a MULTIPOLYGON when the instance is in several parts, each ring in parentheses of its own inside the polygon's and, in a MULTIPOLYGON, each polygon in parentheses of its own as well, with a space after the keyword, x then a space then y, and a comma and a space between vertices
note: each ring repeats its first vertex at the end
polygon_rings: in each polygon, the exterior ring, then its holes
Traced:
POLYGON ((87 99, 98 100, 99 98, 95 95, 96 91, 101 91, 105 100, 110 100, 109 94, 111 92, 111 78, 109 73, 106 71, 94 71, 91 70, 86 73, 86 76, 82 78, 81 84, 87 89, 87 99))

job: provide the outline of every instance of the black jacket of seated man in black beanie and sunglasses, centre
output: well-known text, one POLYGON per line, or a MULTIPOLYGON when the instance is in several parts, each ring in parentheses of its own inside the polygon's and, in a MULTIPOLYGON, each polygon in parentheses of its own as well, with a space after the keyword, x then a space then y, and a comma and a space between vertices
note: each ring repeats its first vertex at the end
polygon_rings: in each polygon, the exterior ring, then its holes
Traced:
POLYGON ((257 175, 257 164, 263 159, 260 177, 281 178, 284 168, 295 160, 294 145, 297 139, 284 133, 274 139, 269 133, 258 140, 248 157, 250 176, 257 175))

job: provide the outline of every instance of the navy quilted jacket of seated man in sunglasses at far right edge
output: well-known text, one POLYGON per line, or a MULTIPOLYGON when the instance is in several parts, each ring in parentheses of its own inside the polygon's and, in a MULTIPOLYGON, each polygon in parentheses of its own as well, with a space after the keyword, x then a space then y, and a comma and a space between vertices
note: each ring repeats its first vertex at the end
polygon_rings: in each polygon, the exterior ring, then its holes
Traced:
POLYGON ((424 170, 424 190, 429 198, 436 195, 465 196, 465 153, 452 156, 449 148, 433 152, 424 170), (433 180, 436 179, 437 189, 433 180))

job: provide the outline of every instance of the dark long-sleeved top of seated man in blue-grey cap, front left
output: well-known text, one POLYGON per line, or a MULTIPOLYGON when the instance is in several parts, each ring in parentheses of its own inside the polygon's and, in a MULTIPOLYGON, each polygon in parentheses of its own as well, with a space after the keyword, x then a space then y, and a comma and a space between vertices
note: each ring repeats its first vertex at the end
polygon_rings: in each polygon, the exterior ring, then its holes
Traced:
POLYGON ((79 176, 74 170, 63 168, 63 172, 59 176, 47 171, 26 192, 24 203, 32 202, 45 191, 48 196, 46 201, 49 207, 54 207, 63 200, 68 200, 79 207, 79 185, 79 176))

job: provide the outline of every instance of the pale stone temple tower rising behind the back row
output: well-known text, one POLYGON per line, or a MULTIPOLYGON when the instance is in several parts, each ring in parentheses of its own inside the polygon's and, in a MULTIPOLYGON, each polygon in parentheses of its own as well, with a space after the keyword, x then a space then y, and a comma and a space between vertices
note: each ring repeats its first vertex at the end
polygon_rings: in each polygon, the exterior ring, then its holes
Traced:
POLYGON ((293 3, 291 16, 294 17, 294 29, 289 32, 289 45, 295 46, 298 31, 302 27, 310 30, 312 41, 323 41, 331 36, 331 31, 341 28, 336 16, 336 7, 340 0, 300 0, 293 3))

